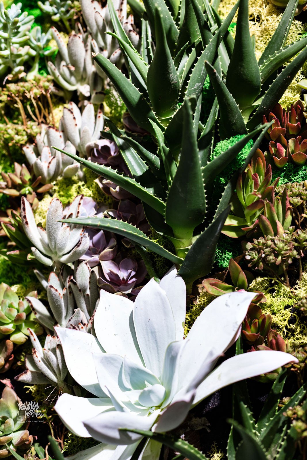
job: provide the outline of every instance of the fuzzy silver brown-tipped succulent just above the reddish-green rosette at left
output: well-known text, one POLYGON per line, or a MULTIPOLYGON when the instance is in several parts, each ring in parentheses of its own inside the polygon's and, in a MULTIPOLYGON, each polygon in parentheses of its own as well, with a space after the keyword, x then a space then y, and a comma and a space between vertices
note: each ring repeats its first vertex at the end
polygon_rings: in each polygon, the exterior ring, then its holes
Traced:
POLYGON ((36 136, 36 146, 27 144, 23 147, 23 153, 30 166, 37 177, 41 176, 43 184, 53 182, 58 176, 74 176, 79 171, 79 164, 74 159, 52 147, 67 149, 72 155, 76 154, 75 147, 63 131, 44 125, 41 134, 36 136))

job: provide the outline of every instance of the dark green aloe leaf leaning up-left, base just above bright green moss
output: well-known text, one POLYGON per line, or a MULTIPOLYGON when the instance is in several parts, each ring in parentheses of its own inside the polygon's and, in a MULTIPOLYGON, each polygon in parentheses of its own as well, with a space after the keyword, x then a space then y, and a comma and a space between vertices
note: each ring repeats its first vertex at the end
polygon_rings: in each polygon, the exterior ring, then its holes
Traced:
POLYGON ((245 134, 246 127, 241 111, 227 89, 225 83, 218 75, 217 71, 209 62, 205 63, 205 67, 210 77, 210 81, 214 88, 216 98, 220 108, 220 137, 222 139, 231 138, 236 134, 245 134))

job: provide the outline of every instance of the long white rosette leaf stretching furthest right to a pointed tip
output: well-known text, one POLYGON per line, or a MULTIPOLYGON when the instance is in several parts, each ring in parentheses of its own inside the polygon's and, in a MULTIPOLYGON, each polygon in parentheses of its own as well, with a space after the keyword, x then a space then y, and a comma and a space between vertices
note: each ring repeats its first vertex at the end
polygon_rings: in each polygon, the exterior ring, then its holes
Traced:
POLYGON ((297 362, 283 351, 251 351, 229 358, 198 386, 193 406, 224 386, 271 372, 292 361, 297 362))

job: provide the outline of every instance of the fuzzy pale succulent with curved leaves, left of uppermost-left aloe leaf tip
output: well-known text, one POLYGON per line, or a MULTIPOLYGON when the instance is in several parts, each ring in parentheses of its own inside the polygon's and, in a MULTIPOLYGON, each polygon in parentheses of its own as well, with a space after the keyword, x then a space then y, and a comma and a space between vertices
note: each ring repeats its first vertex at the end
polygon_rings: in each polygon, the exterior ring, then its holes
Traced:
POLYGON ((97 74, 92 61, 92 37, 85 35, 87 38, 83 38, 81 33, 72 32, 66 46, 58 30, 55 27, 51 30, 58 45, 55 62, 49 61, 47 64, 54 80, 66 91, 76 90, 83 98, 92 95, 93 102, 102 102, 103 80, 97 74))

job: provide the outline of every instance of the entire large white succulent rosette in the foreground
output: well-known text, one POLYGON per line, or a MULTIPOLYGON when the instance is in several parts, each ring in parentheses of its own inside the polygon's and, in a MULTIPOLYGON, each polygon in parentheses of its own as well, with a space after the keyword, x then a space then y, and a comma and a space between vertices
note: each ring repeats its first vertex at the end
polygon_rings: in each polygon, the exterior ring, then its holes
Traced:
MULTIPOLYGON (((71 459, 128 460, 142 437, 122 428, 173 430, 214 391, 295 361, 283 352, 257 351, 214 369, 237 339, 253 297, 235 292, 214 299, 184 339, 185 283, 173 268, 160 284, 151 279, 134 303, 102 290, 94 316, 97 339, 55 328, 70 374, 93 394, 64 394, 55 409, 70 431, 101 441, 71 459)), ((148 441, 142 455, 158 459, 160 449, 148 441)))

